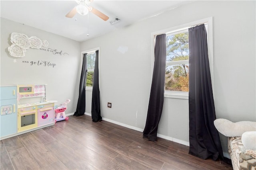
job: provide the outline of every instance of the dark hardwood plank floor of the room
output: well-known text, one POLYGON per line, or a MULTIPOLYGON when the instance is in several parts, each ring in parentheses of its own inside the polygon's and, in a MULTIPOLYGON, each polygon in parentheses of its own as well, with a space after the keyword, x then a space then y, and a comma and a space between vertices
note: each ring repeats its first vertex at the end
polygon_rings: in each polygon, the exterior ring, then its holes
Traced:
POLYGON ((0 141, 1 170, 232 170, 224 162, 202 160, 188 147, 90 116, 69 116, 30 133, 0 141))

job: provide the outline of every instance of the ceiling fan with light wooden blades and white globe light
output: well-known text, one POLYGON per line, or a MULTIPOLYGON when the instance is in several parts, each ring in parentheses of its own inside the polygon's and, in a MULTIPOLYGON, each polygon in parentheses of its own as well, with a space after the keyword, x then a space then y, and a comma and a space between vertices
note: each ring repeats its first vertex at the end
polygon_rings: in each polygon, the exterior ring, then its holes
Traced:
POLYGON ((109 19, 108 16, 100 12, 99 10, 96 10, 95 8, 88 6, 93 0, 76 0, 78 3, 78 6, 75 6, 67 15, 67 18, 73 18, 76 13, 80 15, 86 15, 88 12, 92 12, 96 16, 100 17, 102 20, 106 21, 109 19))

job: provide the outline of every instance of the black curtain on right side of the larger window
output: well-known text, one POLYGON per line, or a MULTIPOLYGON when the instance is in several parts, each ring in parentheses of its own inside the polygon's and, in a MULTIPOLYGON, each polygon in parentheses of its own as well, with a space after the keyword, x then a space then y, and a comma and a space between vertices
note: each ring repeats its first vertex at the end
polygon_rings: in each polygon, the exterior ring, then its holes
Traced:
POLYGON ((189 39, 189 153, 223 160, 210 75, 204 24, 188 29, 189 39))

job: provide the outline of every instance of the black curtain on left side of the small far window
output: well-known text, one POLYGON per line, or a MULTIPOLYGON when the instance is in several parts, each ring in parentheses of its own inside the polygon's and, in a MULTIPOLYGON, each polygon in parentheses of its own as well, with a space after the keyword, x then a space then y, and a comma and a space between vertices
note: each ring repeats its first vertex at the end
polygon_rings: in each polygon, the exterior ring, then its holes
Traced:
POLYGON ((83 57, 83 65, 82 65, 82 72, 80 78, 80 86, 79 86, 79 97, 76 106, 76 112, 74 116, 83 115, 85 112, 85 86, 86 86, 86 79, 87 79, 87 53, 84 54, 83 57))

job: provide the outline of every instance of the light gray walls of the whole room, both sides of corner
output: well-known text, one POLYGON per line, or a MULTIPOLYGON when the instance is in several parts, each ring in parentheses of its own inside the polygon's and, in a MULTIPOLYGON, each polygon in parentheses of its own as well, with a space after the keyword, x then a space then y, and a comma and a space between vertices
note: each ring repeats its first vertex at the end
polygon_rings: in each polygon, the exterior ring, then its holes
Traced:
MULTIPOLYGON (((212 16, 216 116, 234 122, 256 121, 255 5, 255 1, 191 2, 83 43, 1 18, 0 85, 48 84, 48 100, 60 104, 70 99, 66 113, 72 113, 78 99, 80 52, 100 47, 102 117, 142 131, 151 87, 151 33, 212 16), (50 48, 69 56, 28 49, 23 58, 11 57, 7 48, 12 32, 46 39, 50 48), (121 53, 119 47, 128 51, 121 53), (22 63, 34 60, 57 65, 50 68, 22 63)), ((87 113, 91 94, 86 92, 87 113)), ((188 100, 165 98, 159 136, 188 145, 188 122, 188 100)), ((227 152, 226 137, 221 135, 221 140, 227 152)))

